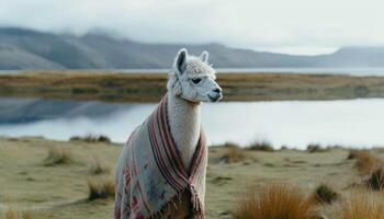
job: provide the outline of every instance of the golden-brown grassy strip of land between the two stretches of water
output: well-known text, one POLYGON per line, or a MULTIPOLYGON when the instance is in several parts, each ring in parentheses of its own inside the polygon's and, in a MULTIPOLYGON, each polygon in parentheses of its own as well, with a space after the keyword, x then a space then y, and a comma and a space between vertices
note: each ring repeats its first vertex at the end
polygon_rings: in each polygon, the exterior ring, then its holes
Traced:
MULTIPOLYGON (((0 74, 0 96, 104 102, 157 102, 166 73, 26 71, 0 74)), ((384 77, 303 73, 218 73, 223 101, 349 100, 384 97, 384 77)))

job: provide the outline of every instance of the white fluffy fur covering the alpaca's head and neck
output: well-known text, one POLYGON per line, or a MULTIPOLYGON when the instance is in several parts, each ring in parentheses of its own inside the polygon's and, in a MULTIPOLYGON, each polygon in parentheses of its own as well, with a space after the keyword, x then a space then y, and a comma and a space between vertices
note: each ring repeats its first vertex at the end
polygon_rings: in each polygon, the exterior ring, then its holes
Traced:
POLYGON ((200 137, 201 102, 212 102, 213 100, 208 96, 217 97, 216 101, 222 97, 222 89, 215 82, 215 71, 208 66, 207 58, 206 51, 200 57, 194 57, 188 56, 187 50, 181 49, 167 84, 171 135, 181 151, 185 169, 190 166, 200 137), (180 61, 182 53, 185 57, 180 61), (202 81, 194 84, 192 79, 195 78, 202 81), (217 89, 219 93, 214 92, 217 89))

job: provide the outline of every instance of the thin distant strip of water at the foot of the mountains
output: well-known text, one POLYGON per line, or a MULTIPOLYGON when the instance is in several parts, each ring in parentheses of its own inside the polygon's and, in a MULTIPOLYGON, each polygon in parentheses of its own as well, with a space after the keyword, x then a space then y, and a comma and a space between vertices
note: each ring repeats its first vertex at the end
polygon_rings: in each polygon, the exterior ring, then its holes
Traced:
MULTIPOLYGON (((169 69, 106 69, 125 73, 165 73, 169 69)), ((78 70, 81 71, 81 70, 78 70)), ((87 70, 89 71, 89 70, 87 70)), ((384 68, 227 68, 217 69, 218 72, 280 72, 280 73, 324 73, 324 74, 350 74, 350 76, 384 76, 384 68)), ((18 70, 0 70, 0 74, 22 73, 18 70)))

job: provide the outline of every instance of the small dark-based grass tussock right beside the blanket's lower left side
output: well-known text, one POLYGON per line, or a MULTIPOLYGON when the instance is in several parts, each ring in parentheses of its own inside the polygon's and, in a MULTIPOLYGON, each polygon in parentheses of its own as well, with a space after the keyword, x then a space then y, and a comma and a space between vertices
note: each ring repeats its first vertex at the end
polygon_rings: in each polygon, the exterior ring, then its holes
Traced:
POLYGON ((88 199, 110 198, 115 195, 114 180, 109 176, 89 177, 87 180, 89 188, 88 199))

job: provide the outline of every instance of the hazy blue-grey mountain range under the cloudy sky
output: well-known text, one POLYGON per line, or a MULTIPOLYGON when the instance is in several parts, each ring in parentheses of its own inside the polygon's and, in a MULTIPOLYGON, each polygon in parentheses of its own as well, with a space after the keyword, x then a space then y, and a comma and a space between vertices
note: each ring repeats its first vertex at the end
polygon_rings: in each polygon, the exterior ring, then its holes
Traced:
POLYGON ((24 28, 0 28, 0 69, 169 68, 176 53, 211 53, 217 68, 384 67, 384 47, 341 48, 330 55, 293 56, 221 44, 147 44, 103 34, 75 36, 24 28))

